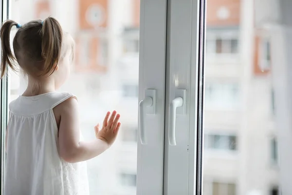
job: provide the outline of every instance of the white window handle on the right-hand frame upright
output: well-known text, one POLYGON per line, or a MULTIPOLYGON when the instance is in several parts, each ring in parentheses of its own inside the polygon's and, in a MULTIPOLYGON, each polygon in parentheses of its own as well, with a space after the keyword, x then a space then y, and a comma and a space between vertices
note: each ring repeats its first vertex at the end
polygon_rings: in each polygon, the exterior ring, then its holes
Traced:
POLYGON ((185 97, 186 90, 178 89, 176 91, 177 98, 174 98, 169 104, 169 119, 168 119, 168 142, 171 146, 176 146, 175 126, 176 126, 176 115, 185 115, 185 97), (180 110, 178 110, 180 109, 180 110), (178 111, 178 112, 177 112, 178 111))

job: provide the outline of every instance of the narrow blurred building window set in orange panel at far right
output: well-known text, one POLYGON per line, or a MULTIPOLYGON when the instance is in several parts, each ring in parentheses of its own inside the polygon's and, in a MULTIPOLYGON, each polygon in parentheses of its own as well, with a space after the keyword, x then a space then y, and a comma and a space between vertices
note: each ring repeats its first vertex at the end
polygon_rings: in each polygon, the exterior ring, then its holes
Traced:
POLYGON ((270 70, 271 69, 271 42, 268 38, 263 38, 260 44, 260 58, 259 65, 261 70, 270 70))

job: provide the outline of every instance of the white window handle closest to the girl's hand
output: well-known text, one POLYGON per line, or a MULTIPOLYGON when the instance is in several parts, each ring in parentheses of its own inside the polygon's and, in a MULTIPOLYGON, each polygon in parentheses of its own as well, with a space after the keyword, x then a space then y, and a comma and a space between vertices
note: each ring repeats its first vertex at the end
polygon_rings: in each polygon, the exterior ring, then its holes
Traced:
POLYGON ((140 123, 140 140, 141 143, 147 144, 145 132, 145 117, 146 115, 155 115, 156 107, 156 90, 147 89, 145 91, 145 98, 139 102, 139 123, 140 123))

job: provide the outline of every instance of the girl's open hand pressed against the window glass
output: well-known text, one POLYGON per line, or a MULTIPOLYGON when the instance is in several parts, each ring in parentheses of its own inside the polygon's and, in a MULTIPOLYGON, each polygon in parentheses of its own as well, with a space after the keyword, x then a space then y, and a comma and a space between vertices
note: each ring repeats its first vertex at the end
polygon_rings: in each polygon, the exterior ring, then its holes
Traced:
POLYGON ((112 112, 110 119, 109 117, 110 112, 107 113, 101 130, 99 124, 94 127, 94 130, 97 139, 101 139, 111 146, 117 137, 121 123, 119 122, 120 115, 116 111, 112 112))

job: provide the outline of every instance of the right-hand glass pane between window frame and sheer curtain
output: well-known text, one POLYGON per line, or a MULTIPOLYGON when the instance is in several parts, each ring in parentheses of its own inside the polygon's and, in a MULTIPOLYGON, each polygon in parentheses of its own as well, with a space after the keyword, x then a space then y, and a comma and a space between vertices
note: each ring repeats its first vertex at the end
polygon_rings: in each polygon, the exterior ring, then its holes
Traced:
POLYGON ((275 120, 279 88, 273 77, 281 80, 281 76, 272 77, 271 67, 278 66, 275 60, 273 64, 273 52, 280 48, 273 48, 274 28, 268 25, 273 21, 262 17, 274 9, 268 1, 268 7, 255 9, 254 2, 263 1, 207 1, 206 50, 215 37, 217 54, 206 52, 202 173, 204 180, 216 181, 213 195, 268 195, 279 185, 280 130, 275 120), (260 27, 255 13, 262 17, 260 27), (263 61, 271 65, 263 68, 263 61))

